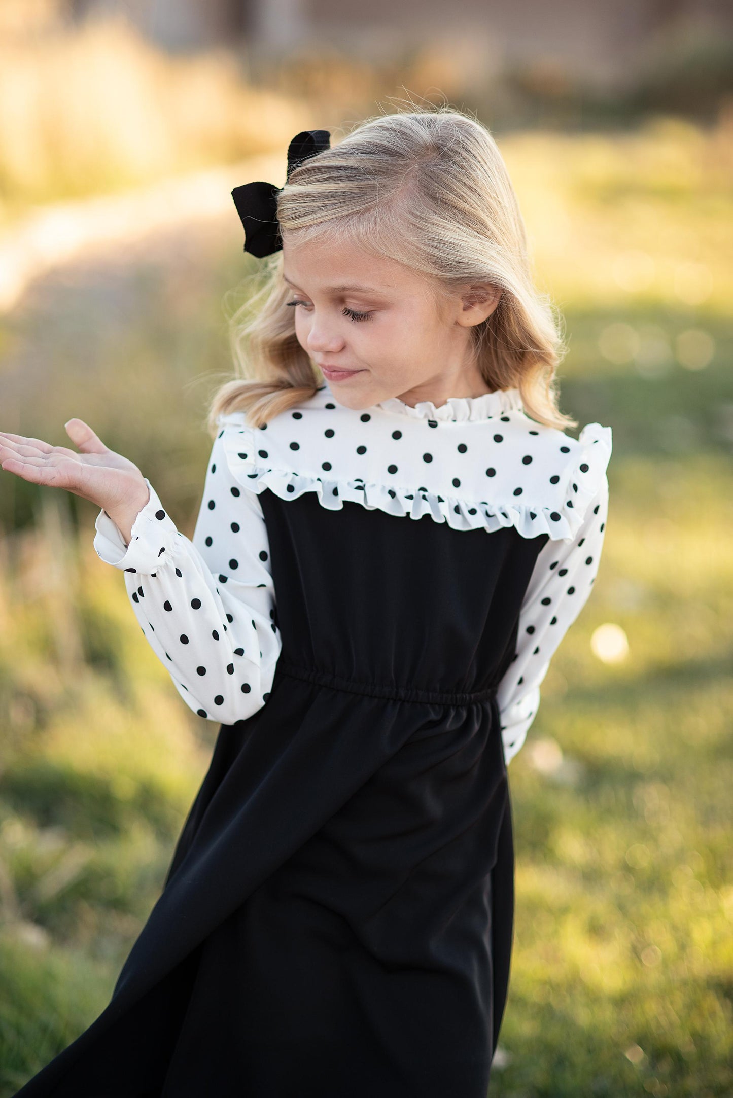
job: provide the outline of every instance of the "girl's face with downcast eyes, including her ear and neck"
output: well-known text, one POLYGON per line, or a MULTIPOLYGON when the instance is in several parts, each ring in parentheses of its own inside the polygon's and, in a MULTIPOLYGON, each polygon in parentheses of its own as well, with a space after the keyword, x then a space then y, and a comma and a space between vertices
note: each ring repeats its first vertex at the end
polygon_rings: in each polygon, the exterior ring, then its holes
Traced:
POLYGON ((500 291, 466 284, 447 300, 402 264, 352 244, 298 244, 284 233, 284 277, 298 343, 340 403, 370 407, 488 392, 473 361, 470 328, 493 312, 500 291))

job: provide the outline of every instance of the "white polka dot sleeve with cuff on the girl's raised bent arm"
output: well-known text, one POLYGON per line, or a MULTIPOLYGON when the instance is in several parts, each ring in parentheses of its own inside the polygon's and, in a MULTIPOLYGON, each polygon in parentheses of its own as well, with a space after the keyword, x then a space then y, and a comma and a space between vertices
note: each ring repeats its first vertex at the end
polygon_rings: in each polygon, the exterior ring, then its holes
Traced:
POLYGON ((281 640, 259 500, 231 477, 221 437, 191 540, 146 479, 151 498, 130 545, 101 511, 95 549, 123 571, 143 634, 186 704, 231 725, 267 701, 281 640))

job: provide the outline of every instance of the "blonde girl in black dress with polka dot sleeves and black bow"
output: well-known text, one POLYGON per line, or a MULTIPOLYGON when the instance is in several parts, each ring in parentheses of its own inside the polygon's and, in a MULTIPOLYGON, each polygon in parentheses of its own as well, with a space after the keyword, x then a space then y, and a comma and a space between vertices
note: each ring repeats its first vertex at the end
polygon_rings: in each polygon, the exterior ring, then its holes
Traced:
POLYGON ((81 421, 79 452, 2 436, 4 470, 102 508, 97 552, 221 725, 109 1006, 23 1098, 487 1093, 507 764, 596 579, 611 430, 564 433, 487 130, 438 109, 329 136, 233 192, 271 258, 192 541, 81 421))

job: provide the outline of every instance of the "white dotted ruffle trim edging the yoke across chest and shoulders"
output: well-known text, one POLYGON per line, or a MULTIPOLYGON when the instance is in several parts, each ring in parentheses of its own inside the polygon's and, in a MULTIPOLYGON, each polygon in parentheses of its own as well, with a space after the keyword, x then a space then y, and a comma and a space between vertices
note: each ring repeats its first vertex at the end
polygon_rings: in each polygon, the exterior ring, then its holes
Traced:
POLYGON ((587 424, 578 436, 580 450, 569 469, 563 494, 558 492, 557 498, 563 502, 536 506, 514 502, 476 502, 453 495, 388 488, 360 478, 342 480, 336 477, 331 480, 291 469, 276 469, 255 459, 254 429, 226 426, 222 441, 232 475, 257 494, 267 488, 281 500, 296 500, 303 492, 316 492, 321 506, 329 511, 341 511, 344 502, 354 502, 368 511, 378 508, 389 515, 410 518, 430 515, 436 523, 447 523, 457 530, 482 527, 492 533, 514 526, 525 538, 548 534, 552 540, 564 541, 571 541, 581 526, 588 504, 596 497, 606 475, 612 448, 610 427, 599 423, 587 424))

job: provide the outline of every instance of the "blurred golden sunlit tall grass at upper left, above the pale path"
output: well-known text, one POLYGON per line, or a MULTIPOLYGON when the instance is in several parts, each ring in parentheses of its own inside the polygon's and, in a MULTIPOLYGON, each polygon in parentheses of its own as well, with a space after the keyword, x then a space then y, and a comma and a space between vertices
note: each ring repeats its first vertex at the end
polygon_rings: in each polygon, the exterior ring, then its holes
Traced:
POLYGON ((233 54, 171 57, 129 22, 0 42, 0 225, 30 202, 116 191, 287 144, 308 109, 233 54))

